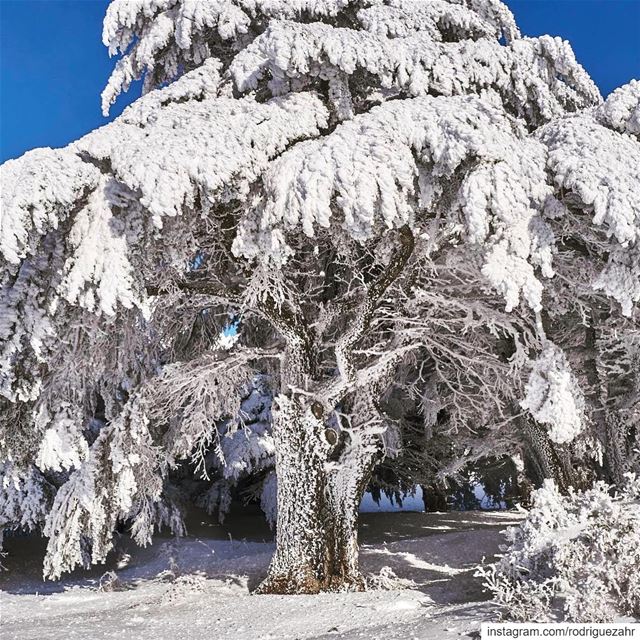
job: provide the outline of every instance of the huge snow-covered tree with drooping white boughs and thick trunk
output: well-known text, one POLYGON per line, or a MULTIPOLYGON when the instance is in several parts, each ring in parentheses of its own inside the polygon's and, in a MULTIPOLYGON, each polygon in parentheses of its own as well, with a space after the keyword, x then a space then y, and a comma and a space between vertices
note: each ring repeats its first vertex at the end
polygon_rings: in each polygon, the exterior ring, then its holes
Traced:
POLYGON ((258 380, 261 592, 363 587, 398 394, 488 450, 525 410, 558 443, 585 428, 547 283, 582 239, 562 283, 637 328, 637 84, 603 103, 498 0, 115 0, 104 41, 105 111, 145 95, 1 176, 1 522, 44 521, 46 575, 104 560, 121 520, 179 531, 169 471, 250 438, 258 380))

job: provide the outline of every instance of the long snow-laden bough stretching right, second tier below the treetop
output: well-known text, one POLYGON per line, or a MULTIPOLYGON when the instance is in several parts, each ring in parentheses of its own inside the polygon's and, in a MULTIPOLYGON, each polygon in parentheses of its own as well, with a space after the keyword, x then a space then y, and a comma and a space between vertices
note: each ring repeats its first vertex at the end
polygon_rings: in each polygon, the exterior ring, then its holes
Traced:
MULTIPOLYGON (((440 43, 423 32, 390 39, 323 23, 272 21, 236 56, 230 70, 241 90, 255 88, 268 71, 274 94, 315 78, 331 87, 344 77, 356 79, 358 72, 377 76, 391 95, 487 92, 536 124, 599 99, 569 45, 548 36, 514 40, 505 47, 488 38, 440 43)), ((341 91, 347 94, 341 100, 349 101, 348 87, 341 91)))

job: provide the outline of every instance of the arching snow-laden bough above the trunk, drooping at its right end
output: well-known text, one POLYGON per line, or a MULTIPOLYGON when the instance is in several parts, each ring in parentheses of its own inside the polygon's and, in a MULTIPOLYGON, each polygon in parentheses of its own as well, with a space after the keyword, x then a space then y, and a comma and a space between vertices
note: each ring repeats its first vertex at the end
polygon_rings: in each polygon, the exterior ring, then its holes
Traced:
POLYGON ((295 145, 265 175, 266 204, 243 222, 234 250, 280 262, 287 255, 282 227, 299 225, 313 236, 316 226, 333 224, 336 209, 341 226, 362 241, 379 224, 413 225, 416 159, 434 183, 446 183, 469 158, 485 163, 465 178, 459 203, 469 239, 489 246, 485 275, 508 309, 521 292, 539 309, 542 289, 530 261, 552 274, 553 237, 531 207, 550 194, 544 150, 504 112, 472 98, 392 101, 295 145))

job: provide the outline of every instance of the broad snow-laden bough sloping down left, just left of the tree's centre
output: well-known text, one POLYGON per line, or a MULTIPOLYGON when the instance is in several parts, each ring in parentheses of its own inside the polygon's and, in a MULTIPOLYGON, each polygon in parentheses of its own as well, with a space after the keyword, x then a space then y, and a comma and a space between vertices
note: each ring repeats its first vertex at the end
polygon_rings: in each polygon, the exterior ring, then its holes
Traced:
POLYGON ((158 226, 162 217, 193 207, 197 195, 205 207, 246 197, 271 158, 288 143, 317 135, 327 118, 322 102, 311 93, 265 104, 215 95, 170 102, 152 119, 144 115, 145 101, 153 107, 158 97, 142 98, 138 107, 74 148, 108 161, 116 179, 141 194, 140 202, 158 226))

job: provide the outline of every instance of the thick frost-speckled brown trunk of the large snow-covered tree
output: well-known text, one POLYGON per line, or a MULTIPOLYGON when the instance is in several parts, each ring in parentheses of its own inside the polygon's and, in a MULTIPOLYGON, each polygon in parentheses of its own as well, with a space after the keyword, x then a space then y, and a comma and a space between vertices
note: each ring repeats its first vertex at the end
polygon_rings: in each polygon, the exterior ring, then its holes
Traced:
POLYGON ((276 551, 256 592, 362 590, 358 507, 375 456, 356 443, 353 459, 332 461, 323 421, 294 399, 278 396, 276 405, 276 551))

